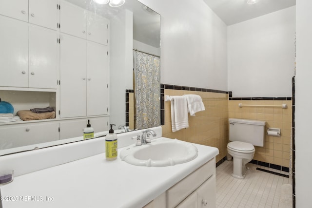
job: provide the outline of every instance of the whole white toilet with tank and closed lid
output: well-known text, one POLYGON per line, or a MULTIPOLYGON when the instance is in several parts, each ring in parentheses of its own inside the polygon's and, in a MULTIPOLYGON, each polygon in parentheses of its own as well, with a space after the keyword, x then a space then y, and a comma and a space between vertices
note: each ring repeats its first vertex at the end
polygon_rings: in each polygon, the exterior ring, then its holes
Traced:
POLYGON ((234 178, 244 179, 246 164, 254 158, 254 146, 264 146, 265 121, 229 118, 228 154, 233 157, 234 178))

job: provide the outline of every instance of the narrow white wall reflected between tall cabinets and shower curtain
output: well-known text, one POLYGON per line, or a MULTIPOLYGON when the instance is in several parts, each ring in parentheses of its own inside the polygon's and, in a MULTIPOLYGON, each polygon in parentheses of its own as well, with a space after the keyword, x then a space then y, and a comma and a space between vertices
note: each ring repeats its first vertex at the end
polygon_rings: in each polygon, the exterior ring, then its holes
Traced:
POLYGON ((128 10, 110 20, 110 123, 117 127, 126 122, 126 89, 133 88, 132 21, 128 10))

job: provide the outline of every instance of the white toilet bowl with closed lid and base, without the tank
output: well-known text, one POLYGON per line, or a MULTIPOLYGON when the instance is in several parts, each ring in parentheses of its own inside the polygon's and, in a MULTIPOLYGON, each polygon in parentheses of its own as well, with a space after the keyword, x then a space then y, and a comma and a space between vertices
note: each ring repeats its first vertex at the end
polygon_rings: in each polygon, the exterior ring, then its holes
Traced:
POLYGON ((233 157, 233 173, 234 178, 244 179, 246 175, 246 164, 254 158, 254 145, 234 141, 227 145, 228 153, 233 157))

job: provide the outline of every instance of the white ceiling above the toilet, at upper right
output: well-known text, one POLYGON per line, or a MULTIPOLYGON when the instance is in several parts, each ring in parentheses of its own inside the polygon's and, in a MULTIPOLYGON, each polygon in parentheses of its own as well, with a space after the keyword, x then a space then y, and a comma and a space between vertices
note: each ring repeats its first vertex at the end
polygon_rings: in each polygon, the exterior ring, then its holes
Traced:
POLYGON ((296 4, 296 0, 203 0, 226 25, 253 19, 296 4))

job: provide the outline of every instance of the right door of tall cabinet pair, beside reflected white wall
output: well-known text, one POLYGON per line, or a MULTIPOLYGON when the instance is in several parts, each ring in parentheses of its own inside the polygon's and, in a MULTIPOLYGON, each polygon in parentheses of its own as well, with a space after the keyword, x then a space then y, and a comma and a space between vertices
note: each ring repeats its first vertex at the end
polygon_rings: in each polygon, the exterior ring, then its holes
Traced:
POLYGON ((87 41, 87 115, 108 113, 107 46, 87 41))

